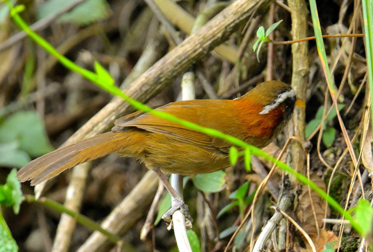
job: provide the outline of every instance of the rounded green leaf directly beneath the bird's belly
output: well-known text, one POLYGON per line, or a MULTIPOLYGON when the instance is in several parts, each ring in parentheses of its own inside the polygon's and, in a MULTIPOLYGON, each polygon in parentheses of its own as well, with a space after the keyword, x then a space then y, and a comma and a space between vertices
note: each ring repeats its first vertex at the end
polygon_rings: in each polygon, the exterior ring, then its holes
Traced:
POLYGON ((224 171, 215 171, 206 174, 197 174, 192 177, 195 187, 203 192, 219 192, 223 190, 225 185, 224 171))

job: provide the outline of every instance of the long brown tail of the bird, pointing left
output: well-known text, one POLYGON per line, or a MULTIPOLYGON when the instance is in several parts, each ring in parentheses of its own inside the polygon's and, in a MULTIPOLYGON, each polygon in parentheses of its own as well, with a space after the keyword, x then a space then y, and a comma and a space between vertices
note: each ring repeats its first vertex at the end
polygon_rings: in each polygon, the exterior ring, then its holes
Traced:
POLYGON ((103 133, 41 156, 22 167, 17 176, 22 182, 31 179, 31 185, 37 185, 66 169, 110 153, 138 156, 145 138, 145 132, 135 129, 103 133))

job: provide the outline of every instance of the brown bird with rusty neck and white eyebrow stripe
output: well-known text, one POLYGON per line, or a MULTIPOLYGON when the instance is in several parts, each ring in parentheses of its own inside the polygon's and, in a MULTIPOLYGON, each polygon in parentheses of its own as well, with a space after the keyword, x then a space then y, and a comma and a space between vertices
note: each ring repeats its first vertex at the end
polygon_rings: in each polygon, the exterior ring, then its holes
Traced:
MULTIPOLYGON (((290 85, 266 81, 234 100, 176 101, 156 110, 263 148, 283 130, 296 105, 305 104, 290 85)), ((164 173, 193 175, 229 167, 232 146, 224 139, 137 111, 117 119, 110 132, 36 158, 22 167, 17 176, 21 182, 31 180, 31 185, 37 185, 73 166, 117 153, 145 163, 167 184, 164 173)), ((169 184, 165 186, 172 196, 178 197, 169 184)), ((180 204, 184 202, 180 200, 180 204)))

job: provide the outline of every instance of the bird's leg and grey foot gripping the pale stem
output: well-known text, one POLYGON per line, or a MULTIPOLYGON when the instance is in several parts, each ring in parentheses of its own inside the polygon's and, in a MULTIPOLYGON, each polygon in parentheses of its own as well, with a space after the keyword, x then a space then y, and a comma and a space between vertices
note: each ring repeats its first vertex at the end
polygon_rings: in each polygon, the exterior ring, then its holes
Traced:
POLYGON ((157 176, 159 177, 159 180, 162 181, 164 187, 169 191, 169 193, 173 197, 174 205, 170 208, 170 210, 168 210, 165 214, 163 214, 162 219, 171 223, 172 222, 172 218, 171 218, 172 214, 180 209, 180 211, 185 215, 187 227, 191 228, 191 226, 192 226, 191 223, 192 223, 193 219, 189 214, 188 205, 185 204, 185 202, 180 198, 180 196, 175 191, 175 189, 173 189, 173 187, 170 185, 170 183, 168 182, 168 179, 166 178, 166 176, 164 176, 162 171, 159 170, 159 168, 156 168, 156 167, 153 167, 152 169, 153 169, 153 171, 155 171, 155 173, 157 173, 157 176))

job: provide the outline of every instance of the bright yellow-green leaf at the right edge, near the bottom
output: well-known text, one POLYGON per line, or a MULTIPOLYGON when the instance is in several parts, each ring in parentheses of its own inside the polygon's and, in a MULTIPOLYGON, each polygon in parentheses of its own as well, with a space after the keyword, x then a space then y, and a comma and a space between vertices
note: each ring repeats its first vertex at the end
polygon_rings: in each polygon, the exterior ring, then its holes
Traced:
POLYGON ((365 236, 372 229, 373 209, 370 206, 370 202, 366 199, 359 199, 354 210, 356 222, 363 230, 363 236, 365 236))

